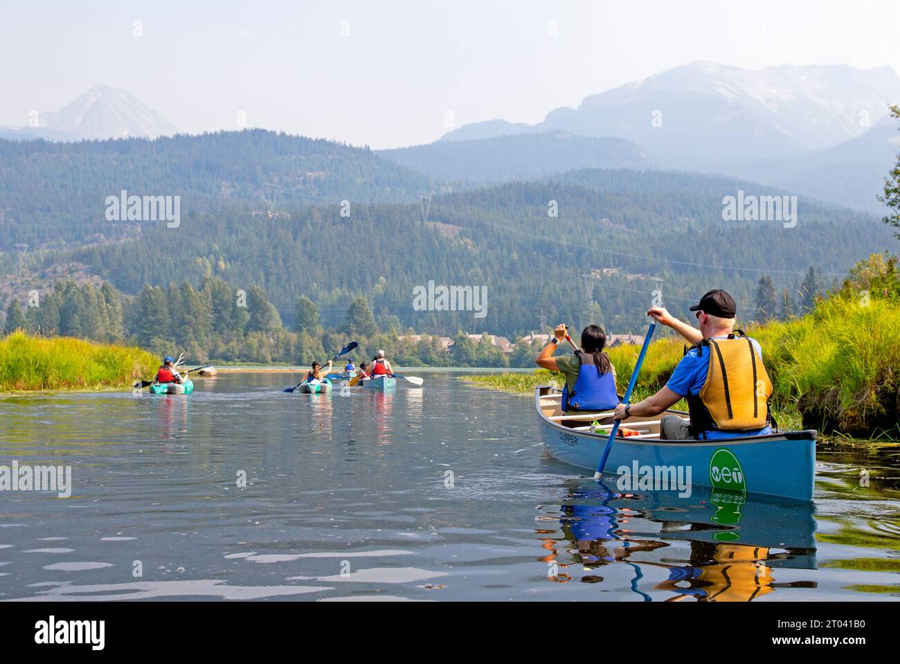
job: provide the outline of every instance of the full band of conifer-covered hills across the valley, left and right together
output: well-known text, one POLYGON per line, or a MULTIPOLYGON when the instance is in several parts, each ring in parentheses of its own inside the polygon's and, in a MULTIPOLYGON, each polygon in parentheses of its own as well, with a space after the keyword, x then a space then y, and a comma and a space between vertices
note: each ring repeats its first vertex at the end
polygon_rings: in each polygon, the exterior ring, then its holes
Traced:
MULTIPOLYGON (((811 266, 821 288, 893 243, 873 217, 804 199, 794 228, 724 220, 725 196, 781 192, 691 173, 582 169, 424 202, 440 182, 367 149, 268 131, 0 141, 0 158, 0 239, 31 245, 16 286, 4 288, 23 304, 76 266, 126 296, 171 283, 202 290, 213 278, 259 288, 288 328, 305 295, 325 328, 364 296, 383 330, 512 338, 564 320, 625 333, 644 328, 655 290, 678 311, 711 287, 733 292, 743 319, 790 311, 809 296, 811 266), (107 221, 105 196, 121 188, 182 195, 177 228, 107 221), (35 283, 37 274, 48 276, 35 283), (484 317, 414 308, 413 289, 429 282, 483 287, 484 317)), ((0 266, 16 269, 11 251, 0 266)))

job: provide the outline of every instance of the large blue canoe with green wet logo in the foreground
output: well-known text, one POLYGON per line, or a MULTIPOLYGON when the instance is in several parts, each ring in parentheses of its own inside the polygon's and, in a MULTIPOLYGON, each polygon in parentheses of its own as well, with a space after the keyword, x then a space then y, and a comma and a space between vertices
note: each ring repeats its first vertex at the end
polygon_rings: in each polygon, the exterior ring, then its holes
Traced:
MULTIPOLYGON (((560 390, 548 385, 535 391, 545 447, 559 461, 593 472, 609 438, 610 413, 565 414, 560 398, 560 390), (596 430, 592 425, 595 420, 600 425, 596 430)), ((663 415, 687 417, 687 413, 676 410, 663 415)), ((617 437, 613 444, 603 469, 613 486, 677 491, 672 485, 687 480, 691 485, 739 496, 813 499, 814 430, 728 440, 671 441, 660 440, 660 417, 623 420, 623 428, 637 435, 617 437)))

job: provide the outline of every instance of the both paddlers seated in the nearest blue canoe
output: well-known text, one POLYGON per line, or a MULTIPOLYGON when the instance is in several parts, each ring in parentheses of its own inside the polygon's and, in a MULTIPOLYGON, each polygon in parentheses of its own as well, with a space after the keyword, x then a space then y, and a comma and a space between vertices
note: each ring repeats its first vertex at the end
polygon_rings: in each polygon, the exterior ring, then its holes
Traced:
MULTIPOLYGON (((759 343, 735 329, 734 298, 722 290, 707 292, 690 307, 698 328, 674 318, 662 307, 647 315, 689 341, 671 378, 650 397, 623 404, 617 395, 616 369, 603 350, 607 338, 599 326, 581 332, 581 347, 572 355, 554 357, 556 347, 569 339, 565 325, 537 355, 538 366, 565 376, 563 412, 614 411, 615 419, 653 417, 679 399, 686 399, 690 419, 662 417, 660 437, 666 440, 716 440, 771 433, 769 411, 772 384, 762 363, 759 343)), ((572 345, 574 345, 572 343, 572 345)))

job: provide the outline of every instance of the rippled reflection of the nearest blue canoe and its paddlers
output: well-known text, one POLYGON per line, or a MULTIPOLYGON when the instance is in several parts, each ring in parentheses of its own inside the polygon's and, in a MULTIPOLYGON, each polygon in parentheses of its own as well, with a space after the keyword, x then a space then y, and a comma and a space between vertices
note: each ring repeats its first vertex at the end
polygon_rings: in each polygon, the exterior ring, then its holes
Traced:
POLYGON ((776 581, 778 568, 816 568, 812 505, 710 489, 688 500, 675 492, 622 494, 572 480, 558 519, 563 541, 543 539, 551 550, 544 560, 562 570, 551 575, 558 582, 581 566, 587 573, 580 580, 602 587, 601 572, 624 565, 631 591, 644 601, 658 591, 665 601, 747 602, 776 588, 816 587, 814 580, 776 581), (651 569, 665 578, 648 581, 651 569))

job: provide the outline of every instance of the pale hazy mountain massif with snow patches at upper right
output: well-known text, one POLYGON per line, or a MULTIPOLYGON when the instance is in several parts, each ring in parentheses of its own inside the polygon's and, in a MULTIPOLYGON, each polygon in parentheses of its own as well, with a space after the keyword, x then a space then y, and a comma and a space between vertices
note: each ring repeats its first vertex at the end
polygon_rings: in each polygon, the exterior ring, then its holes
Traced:
MULTIPOLYGON (((900 138, 888 115, 891 103, 900 103, 900 76, 891 67, 752 71, 698 62, 591 95, 536 125, 474 122, 429 146, 383 155, 411 167, 421 167, 426 157, 449 164, 464 152, 478 152, 464 145, 502 139, 508 149, 517 142, 535 147, 535 135, 552 133, 570 137, 575 146, 564 166, 581 168, 598 165, 598 147, 590 139, 613 137, 633 143, 633 153, 652 167, 734 175, 878 214, 883 208, 875 196, 900 138)), ((533 151, 527 162, 519 159, 507 169, 508 176, 494 177, 504 161, 503 154, 470 161, 469 178, 501 181, 529 168, 567 169, 555 167, 546 150, 533 151)))

